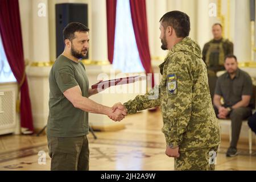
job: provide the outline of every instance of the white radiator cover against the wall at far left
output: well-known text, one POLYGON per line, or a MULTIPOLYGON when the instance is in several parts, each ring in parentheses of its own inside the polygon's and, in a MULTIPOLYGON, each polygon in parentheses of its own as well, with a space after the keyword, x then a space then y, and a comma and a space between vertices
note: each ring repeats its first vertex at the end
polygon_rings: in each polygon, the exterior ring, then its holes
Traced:
POLYGON ((0 135, 19 133, 19 122, 16 117, 17 85, 0 85, 0 135))

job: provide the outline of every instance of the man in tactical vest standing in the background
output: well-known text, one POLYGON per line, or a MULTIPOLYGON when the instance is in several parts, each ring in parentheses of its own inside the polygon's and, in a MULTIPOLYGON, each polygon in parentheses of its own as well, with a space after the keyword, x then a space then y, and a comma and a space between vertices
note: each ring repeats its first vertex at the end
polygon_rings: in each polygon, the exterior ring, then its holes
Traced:
POLYGON ((217 81, 216 73, 225 70, 224 58, 233 54, 233 43, 222 38, 222 26, 215 23, 212 26, 213 39, 203 48, 203 60, 207 65, 210 97, 213 101, 214 89, 217 81))

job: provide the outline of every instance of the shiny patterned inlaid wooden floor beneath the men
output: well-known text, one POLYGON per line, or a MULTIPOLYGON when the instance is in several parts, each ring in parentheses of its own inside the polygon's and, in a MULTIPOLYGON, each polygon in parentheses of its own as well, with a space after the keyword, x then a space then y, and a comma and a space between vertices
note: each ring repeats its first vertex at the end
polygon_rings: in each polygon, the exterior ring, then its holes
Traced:
MULTIPOLYGON (((88 135, 90 170, 173 170, 174 159, 165 155, 160 113, 142 112, 127 117, 126 129, 88 135), (139 122, 138 122, 139 121, 139 122)), ((256 170, 256 150, 249 154, 246 142, 238 144, 239 155, 226 158, 227 139, 217 155, 217 170, 256 170)), ((0 170, 49 170, 46 135, 0 137, 0 170)))

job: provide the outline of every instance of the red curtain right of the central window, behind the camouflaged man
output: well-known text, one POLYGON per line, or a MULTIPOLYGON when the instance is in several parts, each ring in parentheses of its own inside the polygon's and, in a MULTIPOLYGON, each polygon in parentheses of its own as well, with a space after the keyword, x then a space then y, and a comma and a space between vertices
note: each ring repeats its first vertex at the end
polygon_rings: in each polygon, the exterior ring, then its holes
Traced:
MULTIPOLYGON (((135 39, 141 58, 142 65, 146 73, 153 73, 151 67, 150 49, 147 34, 147 15, 145 0, 130 0, 131 19, 135 39)), ((152 86, 154 86, 154 75, 152 74, 152 86)))

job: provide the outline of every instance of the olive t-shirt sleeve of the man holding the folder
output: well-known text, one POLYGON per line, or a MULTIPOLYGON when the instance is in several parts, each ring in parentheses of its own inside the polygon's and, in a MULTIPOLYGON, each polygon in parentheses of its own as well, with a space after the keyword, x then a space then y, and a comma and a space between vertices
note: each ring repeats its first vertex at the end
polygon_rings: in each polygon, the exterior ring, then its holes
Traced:
POLYGON ((59 69, 55 73, 55 79, 62 93, 78 85, 75 78, 75 72, 71 68, 59 69))

